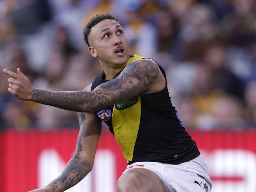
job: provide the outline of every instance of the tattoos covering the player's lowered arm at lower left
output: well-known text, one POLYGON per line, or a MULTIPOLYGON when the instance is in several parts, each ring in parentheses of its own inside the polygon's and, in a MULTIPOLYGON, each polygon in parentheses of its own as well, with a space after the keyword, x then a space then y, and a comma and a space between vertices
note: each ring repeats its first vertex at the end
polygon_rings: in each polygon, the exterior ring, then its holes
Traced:
POLYGON ((78 135, 78 140, 76 144, 76 151, 74 156, 69 160, 65 169, 59 175, 57 179, 52 181, 47 187, 51 189, 52 192, 65 191, 70 187, 76 185, 81 181, 92 169, 91 164, 80 157, 80 152, 82 150, 81 139, 84 132, 84 121, 85 115, 83 113, 78 113, 78 120, 80 125, 80 131, 78 135))

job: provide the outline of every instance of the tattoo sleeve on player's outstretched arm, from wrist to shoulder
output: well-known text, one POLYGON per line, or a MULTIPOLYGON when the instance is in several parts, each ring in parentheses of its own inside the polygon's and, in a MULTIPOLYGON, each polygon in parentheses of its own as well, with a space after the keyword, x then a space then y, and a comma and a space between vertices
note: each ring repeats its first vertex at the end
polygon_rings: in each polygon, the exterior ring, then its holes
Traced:
POLYGON ((128 64, 121 74, 93 91, 53 92, 34 89, 32 101, 69 111, 94 112, 142 94, 158 78, 158 66, 146 59, 128 64))

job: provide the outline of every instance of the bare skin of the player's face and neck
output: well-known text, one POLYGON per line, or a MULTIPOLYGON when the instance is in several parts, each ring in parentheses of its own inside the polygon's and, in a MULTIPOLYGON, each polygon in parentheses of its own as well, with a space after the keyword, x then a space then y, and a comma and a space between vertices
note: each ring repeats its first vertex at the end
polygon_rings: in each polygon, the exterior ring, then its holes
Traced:
POLYGON ((126 65, 129 59, 128 41, 124 29, 115 20, 106 19, 99 22, 89 34, 89 53, 98 58, 106 74, 106 80, 112 79, 126 65), (117 48, 123 48, 119 56, 114 53, 117 48))

